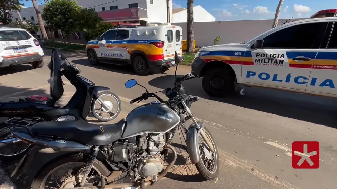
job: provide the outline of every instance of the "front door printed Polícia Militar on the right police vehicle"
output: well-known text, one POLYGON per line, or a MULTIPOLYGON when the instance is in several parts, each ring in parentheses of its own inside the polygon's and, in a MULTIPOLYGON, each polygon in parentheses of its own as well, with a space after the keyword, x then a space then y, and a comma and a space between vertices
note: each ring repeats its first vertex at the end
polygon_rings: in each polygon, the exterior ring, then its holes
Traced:
POLYGON ((289 25, 264 36, 261 49, 249 45, 242 64, 244 83, 305 90, 327 24, 289 25))

